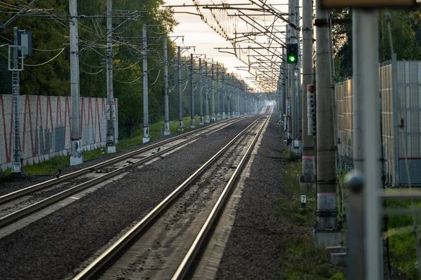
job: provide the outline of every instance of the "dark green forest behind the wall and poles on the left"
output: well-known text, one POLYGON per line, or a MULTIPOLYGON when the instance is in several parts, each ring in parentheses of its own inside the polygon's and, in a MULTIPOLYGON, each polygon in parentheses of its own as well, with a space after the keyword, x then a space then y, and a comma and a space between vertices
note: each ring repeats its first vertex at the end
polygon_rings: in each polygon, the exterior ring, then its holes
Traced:
MULTIPOLYGON (((119 135, 129 137, 142 125, 142 26, 147 25, 148 96, 151 123, 163 119, 163 36, 178 25, 173 10, 162 8, 163 0, 113 0, 114 98, 119 104, 119 135), (133 15, 139 15, 133 18, 133 15), (133 19, 130 19, 130 18, 133 19), (118 27, 118 28, 116 28, 118 27)), ((0 24, 20 8, 20 1, 0 1, 0 24)), ((22 5, 27 5, 22 2, 22 5)), ((106 97, 106 0, 78 1, 79 73, 81 97, 106 97)), ((13 27, 32 32, 33 55, 25 59, 20 76, 20 94, 70 95, 69 1, 40 0, 35 6, 0 31, 0 45, 13 43, 13 27), (57 56, 57 57, 56 57, 57 56), (51 62, 50 61, 53 57, 51 62), (45 63, 44 62, 48 62, 45 63), (39 65, 41 64, 41 65, 39 65), (36 65, 36 66, 31 66, 36 65)), ((177 38, 182 44, 182 38, 177 38)), ((168 38, 168 82, 170 120, 178 119, 177 46, 168 38)), ((189 53, 182 51, 183 116, 189 116, 189 53)), ((0 94, 11 94, 11 72, 7 69, 8 48, 0 48, 0 94), (10 81, 10 83, 8 83, 10 81)), ((194 68, 198 68, 195 59, 194 68)), ((220 64, 219 64, 220 65, 220 64)), ((222 65, 220 65, 222 67, 222 65)), ((220 69, 222 70, 223 67, 220 69)), ((209 65, 210 71, 210 65, 209 65)), ((198 80, 194 73, 194 88, 198 80)), ((227 74, 227 73, 225 73, 227 74)), ((235 81, 235 79, 232 79, 235 81)), ((198 90, 195 90, 197 95, 198 90)), ((199 98, 195 98, 196 114, 199 98)))

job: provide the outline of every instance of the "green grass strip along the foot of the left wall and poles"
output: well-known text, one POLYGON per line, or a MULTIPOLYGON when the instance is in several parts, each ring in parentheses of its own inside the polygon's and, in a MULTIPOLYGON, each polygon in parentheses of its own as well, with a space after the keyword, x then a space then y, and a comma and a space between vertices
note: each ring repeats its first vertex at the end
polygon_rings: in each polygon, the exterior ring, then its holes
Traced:
MULTIPOLYGON (((196 127, 199 127, 199 121, 200 117, 196 116, 195 122, 196 127)), ((191 119, 190 117, 183 118, 183 127, 185 132, 192 130, 190 128, 191 125, 191 119)), ((161 127, 163 129, 163 121, 154 123, 149 126, 149 137, 151 139, 159 138, 161 135, 161 127)), ((170 121, 170 132, 171 134, 177 134, 178 133, 178 120, 172 120, 170 121)), ((116 145, 117 151, 125 151, 129 148, 132 148, 133 146, 142 144, 143 139, 143 128, 140 128, 138 131, 134 132, 130 138, 122 139, 119 141, 119 143, 116 145)), ((95 160, 97 158, 101 157, 111 157, 112 154, 107 154, 106 148, 100 148, 93 151, 86 151, 83 152, 83 161, 88 160, 95 160)), ((69 167, 70 158, 66 155, 58 155, 54 158, 51 158, 51 160, 46 160, 44 162, 41 162, 36 165, 27 165, 25 166, 24 173, 27 175, 51 175, 51 174, 57 174, 58 169, 65 169, 66 167, 69 167)), ((0 172, 0 181, 4 181, 11 176, 11 169, 6 169, 4 172, 0 172)))

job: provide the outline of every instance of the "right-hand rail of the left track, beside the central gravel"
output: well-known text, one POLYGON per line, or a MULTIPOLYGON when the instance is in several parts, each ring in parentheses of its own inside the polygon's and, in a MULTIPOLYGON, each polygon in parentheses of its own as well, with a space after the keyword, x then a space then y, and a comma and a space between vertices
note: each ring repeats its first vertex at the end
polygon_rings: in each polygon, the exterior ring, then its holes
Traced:
MULTIPOLYGON (((260 119, 260 118, 259 118, 260 119)), ((254 122, 253 122, 254 123, 254 122)), ((230 125, 228 123, 227 125, 230 125)), ((213 130, 219 130, 220 127, 213 127, 212 130, 206 131, 206 133, 212 132, 213 130)), ((76 185, 72 188, 68 188, 67 190, 63 190, 60 193, 57 193, 55 195, 52 195, 51 197, 47 197, 44 200, 41 200, 39 202, 36 202, 34 204, 31 204, 27 207, 24 207, 22 209, 19 209, 17 211, 14 211, 11 214, 8 214, 6 216, 3 216, 0 218, 0 228, 4 228, 6 225, 9 225, 11 223, 14 223, 15 221, 20 220, 21 218, 24 218, 25 216, 28 216, 29 214, 34 214, 37 211, 40 211, 41 209, 44 209, 48 206, 51 206, 52 204, 55 204, 56 202, 59 202, 60 200, 63 200, 71 195, 74 195, 75 193, 80 193, 82 190, 86 190, 87 188, 90 188, 92 186, 95 186, 98 183, 102 183, 103 181, 107 181, 108 179, 111 179, 114 176, 117 176, 123 172, 126 172, 126 170, 131 169, 132 167, 136 167, 138 165, 142 165, 145 162, 149 162, 150 160, 153 160, 158 155, 161 155, 163 153, 168 153, 168 151, 172 151, 174 148, 178 148, 180 146, 183 146, 191 141, 194 141, 195 139, 201 137, 202 134, 197 134, 196 136, 186 139, 185 141, 182 141, 178 144, 175 144, 174 146, 168 147, 166 149, 161 149, 161 151, 158 151, 152 155, 148 155, 145 158, 142 158, 136 162, 133 162, 131 165, 126 165, 124 167, 120 167, 119 169, 113 170, 112 172, 109 172, 107 174, 104 174, 102 176, 98 176, 94 179, 91 179, 89 181, 86 181, 84 183, 80 183, 79 185, 76 185)))

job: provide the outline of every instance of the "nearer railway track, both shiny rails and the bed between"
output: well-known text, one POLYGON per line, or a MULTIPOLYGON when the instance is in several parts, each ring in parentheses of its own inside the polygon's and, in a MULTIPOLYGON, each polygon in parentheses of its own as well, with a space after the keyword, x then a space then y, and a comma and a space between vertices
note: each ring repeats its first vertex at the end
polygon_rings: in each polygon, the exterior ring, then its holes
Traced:
POLYGON ((74 280, 191 276, 268 120, 237 134, 74 280))

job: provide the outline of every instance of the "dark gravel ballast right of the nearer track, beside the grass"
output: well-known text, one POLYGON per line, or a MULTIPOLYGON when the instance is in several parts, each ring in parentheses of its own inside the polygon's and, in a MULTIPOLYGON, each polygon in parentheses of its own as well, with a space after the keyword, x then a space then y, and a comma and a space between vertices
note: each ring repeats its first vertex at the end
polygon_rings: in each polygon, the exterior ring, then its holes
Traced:
POLYGON ((274 279, 280 272, 282 220, 274 202, 281 197, 285 143, 278 137, 276 122, 272 114, 244 183, 216 279, 274 279))

